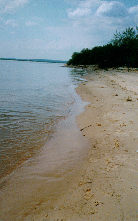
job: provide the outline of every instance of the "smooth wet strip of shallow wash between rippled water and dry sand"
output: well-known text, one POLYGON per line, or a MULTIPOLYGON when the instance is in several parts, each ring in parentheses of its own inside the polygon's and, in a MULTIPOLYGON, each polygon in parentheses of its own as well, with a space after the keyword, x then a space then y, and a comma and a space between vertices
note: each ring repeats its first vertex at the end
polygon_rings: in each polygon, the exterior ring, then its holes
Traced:
POLYGON ((75 120, 85 105, 74 92, 70 113, 57 122, 46 148, 7 178, 0 190, 1 220, 41 220, 69 189, 89 148, 75 120))

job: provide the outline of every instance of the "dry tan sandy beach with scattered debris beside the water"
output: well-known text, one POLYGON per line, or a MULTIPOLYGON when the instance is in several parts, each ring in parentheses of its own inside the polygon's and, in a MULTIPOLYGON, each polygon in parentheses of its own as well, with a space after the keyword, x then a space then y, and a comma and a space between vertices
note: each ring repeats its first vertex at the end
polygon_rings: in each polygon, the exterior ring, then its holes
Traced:
POLYGON ((77 92, 90 104, 77 122, 90 141, 89 158, 75 183, 41 218, 138 220, 138 72, 88 73, 77 92))

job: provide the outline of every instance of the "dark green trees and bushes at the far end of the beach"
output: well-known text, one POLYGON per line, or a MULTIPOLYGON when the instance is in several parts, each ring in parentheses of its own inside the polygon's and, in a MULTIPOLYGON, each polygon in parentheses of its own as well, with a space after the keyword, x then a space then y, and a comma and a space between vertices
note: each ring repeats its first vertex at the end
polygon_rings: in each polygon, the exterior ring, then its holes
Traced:
POLYGON ((74 52, 68 65, 98 65, 99 68, 138 67, 138 27, 126 28, 106 45, 74 52))

